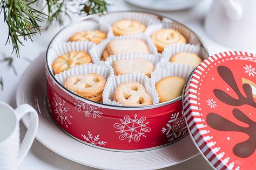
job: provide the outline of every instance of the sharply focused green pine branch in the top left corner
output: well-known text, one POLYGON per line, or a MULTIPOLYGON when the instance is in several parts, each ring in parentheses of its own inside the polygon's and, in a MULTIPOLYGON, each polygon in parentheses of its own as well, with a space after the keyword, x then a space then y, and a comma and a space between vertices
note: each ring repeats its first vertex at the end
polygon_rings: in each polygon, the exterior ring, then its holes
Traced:
MULTIPOLYGON (((37 0, 36 0, 37 1, 37 0)), ((23 45, 21 38, 32 40, 40 32, 38 22, 42 22, 44 13, 31 8, 29 5, 36 1, 1 0, 0 14, 3 12, 4 22, 8 25, 8 39, 6 44, 12 42, 12 53, 15 51, 19 57, 19 45, 23 45)))

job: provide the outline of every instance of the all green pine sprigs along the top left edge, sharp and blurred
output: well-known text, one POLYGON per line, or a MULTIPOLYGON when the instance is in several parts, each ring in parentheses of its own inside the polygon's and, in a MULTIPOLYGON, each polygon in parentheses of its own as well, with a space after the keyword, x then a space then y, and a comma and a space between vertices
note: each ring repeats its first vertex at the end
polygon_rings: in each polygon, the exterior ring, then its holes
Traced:
POLYGON ((107 11, 107 4, 103 0, 80 0, 82 10, 71 11, 68 6, 75 4, 75 0, 45 0, 45 7, 48 8, 48 14, 33 9, 30 5, 38 0, 0 0, 0 14, 3 12, 4 22, 8 25, 8 39, 12 44, 12 53, 15 52, 19 58, 19 45, 23 45, 22 39, 33 41, 33 36, 40 33, 39 22, 48 19, 46 29, 57 21, 59 25, 63 24, 63 16, 70 17, 71 13, 91 15, 93 13, 107 11), (63 15, 64 14, 64 15, 63 15))

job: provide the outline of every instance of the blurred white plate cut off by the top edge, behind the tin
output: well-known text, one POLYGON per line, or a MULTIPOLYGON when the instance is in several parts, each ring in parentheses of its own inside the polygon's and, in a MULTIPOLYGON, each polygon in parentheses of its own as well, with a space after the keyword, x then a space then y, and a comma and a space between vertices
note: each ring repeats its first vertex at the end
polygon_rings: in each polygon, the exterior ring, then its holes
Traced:
POLYGON ((176 11, 191 8, 201 0, 125 0, 140 8, 156 11, 176 11))

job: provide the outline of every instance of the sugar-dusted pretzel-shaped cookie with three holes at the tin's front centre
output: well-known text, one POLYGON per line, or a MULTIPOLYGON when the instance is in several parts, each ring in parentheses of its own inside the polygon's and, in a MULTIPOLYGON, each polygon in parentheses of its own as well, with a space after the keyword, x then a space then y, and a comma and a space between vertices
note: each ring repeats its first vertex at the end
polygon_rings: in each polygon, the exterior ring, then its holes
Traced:
POLYGON ((125 82, 118 85, 114 91, 114 101, 124 106, 142 106, 153 104, 153 100, 146 93, 145 87, 138 82, 125 82))

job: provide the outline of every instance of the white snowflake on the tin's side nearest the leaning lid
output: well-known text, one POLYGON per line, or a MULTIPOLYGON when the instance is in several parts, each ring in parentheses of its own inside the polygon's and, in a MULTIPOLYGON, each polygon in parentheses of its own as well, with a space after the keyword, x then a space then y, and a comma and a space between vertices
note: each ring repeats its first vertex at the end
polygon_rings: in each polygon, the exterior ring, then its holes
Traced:
POLYGON ((179 112, 171 114, 171 119, 166 124, 167 127, 162 128, 161 132, 165 133, 168 141, 174 141, 187 133, 187 127, 183 117, 179 117, 179 112))

